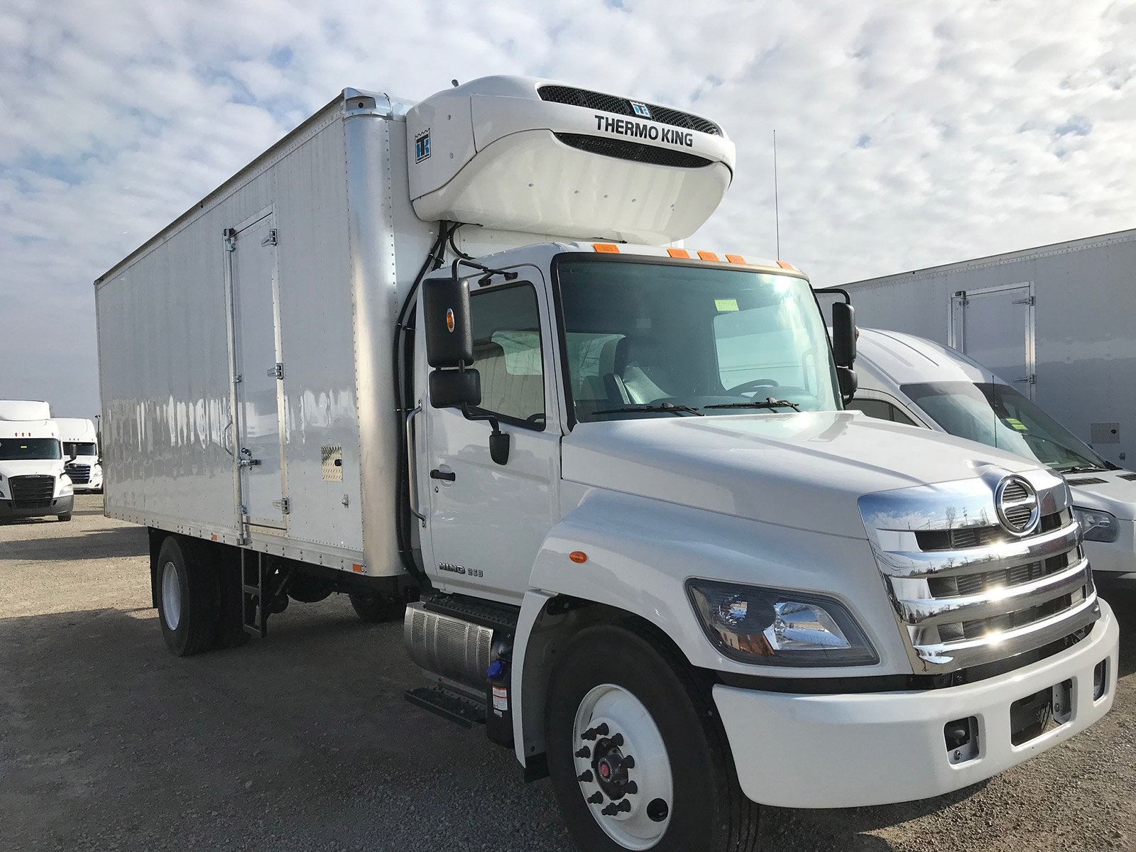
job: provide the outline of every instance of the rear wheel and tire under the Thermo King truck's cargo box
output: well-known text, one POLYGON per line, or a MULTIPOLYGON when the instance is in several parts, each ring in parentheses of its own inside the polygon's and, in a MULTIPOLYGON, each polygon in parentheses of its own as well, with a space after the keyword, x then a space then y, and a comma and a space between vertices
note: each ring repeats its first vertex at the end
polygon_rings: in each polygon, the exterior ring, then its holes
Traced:
POLYGON ((217 569, 191 542, 168 535, 158 551, 158 621, 178 657, 207 650, 217 635, 220 585, 217 569))

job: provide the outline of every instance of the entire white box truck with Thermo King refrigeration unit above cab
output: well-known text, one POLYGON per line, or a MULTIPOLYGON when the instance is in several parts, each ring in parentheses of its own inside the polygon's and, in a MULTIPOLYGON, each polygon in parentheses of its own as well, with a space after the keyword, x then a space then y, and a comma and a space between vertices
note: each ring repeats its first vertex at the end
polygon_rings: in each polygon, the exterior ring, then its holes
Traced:
POLYGON ((408 699, 587 850, 754 849, 758 802, 934 796, 1100 719, 1066 483, 844 411, 851 309, 677 247, 733 170, 552 81, 349 89, 101 276, 106 511, 170 650, 401 617, 408 699))

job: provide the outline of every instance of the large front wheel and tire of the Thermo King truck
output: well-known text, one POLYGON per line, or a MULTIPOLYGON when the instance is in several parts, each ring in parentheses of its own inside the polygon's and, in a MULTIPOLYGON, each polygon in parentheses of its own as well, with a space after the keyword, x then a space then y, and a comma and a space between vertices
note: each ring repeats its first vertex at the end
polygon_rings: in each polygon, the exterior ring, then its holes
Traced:
POLYGON ((552 673, 549 774, 573 842, 594 852, 757 850, 759 809, 738 786, 709 686, 653 644, 590 627, 552 673), (603 813, 612 808, 626 810, 603 813))

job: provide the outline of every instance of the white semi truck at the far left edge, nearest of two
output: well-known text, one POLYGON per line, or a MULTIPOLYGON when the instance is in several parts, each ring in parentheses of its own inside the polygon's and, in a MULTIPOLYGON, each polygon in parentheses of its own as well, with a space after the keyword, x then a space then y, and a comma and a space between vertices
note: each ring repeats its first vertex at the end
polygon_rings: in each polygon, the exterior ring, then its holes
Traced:
POLYGON ((75 501, 64 468, 59 426, 39 400, 0 400, 0 521, 72 519, 75 501))

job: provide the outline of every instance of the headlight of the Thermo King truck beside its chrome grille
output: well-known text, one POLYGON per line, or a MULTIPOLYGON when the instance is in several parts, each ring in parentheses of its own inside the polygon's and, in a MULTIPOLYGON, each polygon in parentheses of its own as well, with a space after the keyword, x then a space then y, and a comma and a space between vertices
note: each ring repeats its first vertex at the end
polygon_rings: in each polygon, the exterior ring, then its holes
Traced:
POLYGON ((870 666, 875 649, 842 603, 824 595, 708 579, 686 583, 710 642, 761 666, 870 666))

